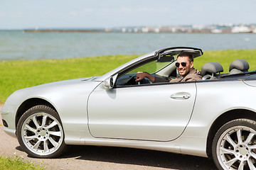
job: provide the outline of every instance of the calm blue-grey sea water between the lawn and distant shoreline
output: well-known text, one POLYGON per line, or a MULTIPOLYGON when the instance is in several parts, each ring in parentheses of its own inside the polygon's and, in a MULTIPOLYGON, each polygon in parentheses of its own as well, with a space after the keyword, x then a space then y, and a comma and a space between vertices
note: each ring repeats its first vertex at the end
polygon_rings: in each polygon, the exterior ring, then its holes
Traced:
POLYGON ((254 33, 26 33, 0 31, 0 60, 142 55, 164 47, 256 49, 254 33))

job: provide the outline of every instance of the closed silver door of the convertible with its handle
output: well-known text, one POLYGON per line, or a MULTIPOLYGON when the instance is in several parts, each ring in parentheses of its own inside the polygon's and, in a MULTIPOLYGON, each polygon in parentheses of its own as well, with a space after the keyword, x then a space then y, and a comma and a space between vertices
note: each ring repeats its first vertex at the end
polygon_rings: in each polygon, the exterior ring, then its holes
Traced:
POLYGON ((88 125, 93 137, 175 140, 186 128, 196 98, 194 82, 151 84, 105 90, 88 98, 88 125))

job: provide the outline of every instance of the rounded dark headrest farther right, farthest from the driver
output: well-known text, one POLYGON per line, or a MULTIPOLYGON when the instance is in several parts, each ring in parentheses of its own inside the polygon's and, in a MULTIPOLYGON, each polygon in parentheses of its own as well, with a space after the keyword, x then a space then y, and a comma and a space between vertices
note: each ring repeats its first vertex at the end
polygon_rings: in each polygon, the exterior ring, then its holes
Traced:
POLYGON ((248 72, 248 69, 250 68, 248 62, 244 59, 238 59, 230 64, 229 68, 229 74, 238 74, 242 72, 248 72))

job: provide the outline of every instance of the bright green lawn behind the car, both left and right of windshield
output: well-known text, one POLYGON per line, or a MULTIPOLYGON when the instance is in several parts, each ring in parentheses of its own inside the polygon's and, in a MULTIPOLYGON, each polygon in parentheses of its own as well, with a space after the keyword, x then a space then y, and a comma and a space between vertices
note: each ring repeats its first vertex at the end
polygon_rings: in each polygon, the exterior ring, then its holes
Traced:
MULTIPOLYGON (((256 50, 224 50, 204 52, 195 60, 201 70, 206 62, 220 62, 224 72, 233 60, 245 59, 250 70, 256 69, 256 50)), ((65 60, 21 60, 0 62, 0 103, 18 89, 65 79, 100 76, 139 55, 85 57, 65 60)), ((142 70, 143 71, 143 70, 142 70)))

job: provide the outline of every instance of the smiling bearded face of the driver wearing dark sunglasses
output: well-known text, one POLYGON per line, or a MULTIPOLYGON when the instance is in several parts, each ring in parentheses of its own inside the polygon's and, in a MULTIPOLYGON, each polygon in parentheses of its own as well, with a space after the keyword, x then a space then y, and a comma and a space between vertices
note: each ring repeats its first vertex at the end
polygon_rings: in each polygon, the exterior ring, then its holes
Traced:
POLYGON ((193 62, 189 60, 189 57, 178 57, 177 62, 179 63, 179 66, 177 67, 178 73, 182 77, 188 74, 193 69, 193 62), (181 64, 182 62, 186 63, 185 67, 181 64))

